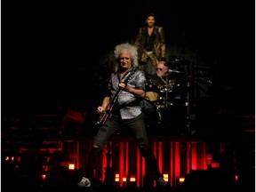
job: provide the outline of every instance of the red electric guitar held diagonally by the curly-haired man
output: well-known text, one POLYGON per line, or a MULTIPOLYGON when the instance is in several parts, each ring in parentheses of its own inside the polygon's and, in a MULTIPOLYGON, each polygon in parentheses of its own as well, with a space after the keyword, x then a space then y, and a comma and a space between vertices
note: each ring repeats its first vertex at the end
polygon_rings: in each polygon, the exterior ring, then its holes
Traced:
MULTIPOLYGON (((124 84, 127 84, 128 81, 132 78, 132 75, 134 74, 134 71, 130 71, 128 72, 126 75, 124 75, 124 79, 122 79, 122 82, 124 84)), ((108 102, 108 106, 105 108, 104 111, 102 111, 102 113, 100 113, 100 118, 99 120, 95 123, 97 126, 102 126, 103 124, 105 124, 106 120, 108 119, 108 116, 111 114, 111 111, 116 103, 116 99, 118 97, 118 95, 120 94, 120 92, 122 91, 122 89, 120 89, 118 87, 117 91, 115 92, 114 96, 111 98, 111 100, 109 100, 108 102)))

